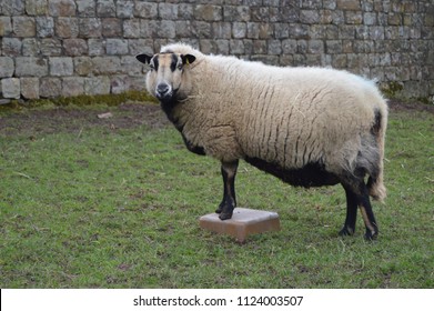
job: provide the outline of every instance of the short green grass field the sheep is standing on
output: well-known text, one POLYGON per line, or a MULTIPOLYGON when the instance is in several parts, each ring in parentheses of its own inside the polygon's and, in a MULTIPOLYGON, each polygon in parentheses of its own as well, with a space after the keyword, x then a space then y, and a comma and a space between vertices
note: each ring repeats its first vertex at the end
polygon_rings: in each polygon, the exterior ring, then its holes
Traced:
POLYGON ((279 212, 282 230, 244 244, 203 231, 222 197, 215 160, 171 127, 71 122, 79 130, 0 131, 1 288, 434 288, 430 112, 391 113, 371 243, 360 217, 354 237, 337 237, 340 187, 295 189, 244 162, 239 204, 279 212))

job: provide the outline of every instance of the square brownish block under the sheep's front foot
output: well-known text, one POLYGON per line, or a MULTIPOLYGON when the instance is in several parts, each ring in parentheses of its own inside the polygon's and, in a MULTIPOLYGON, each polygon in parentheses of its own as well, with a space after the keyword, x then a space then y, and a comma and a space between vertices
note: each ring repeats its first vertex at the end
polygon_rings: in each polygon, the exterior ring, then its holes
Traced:
POLYGON ((202 229, 229 234, 241 243, 251 234, 280 230, 277 213, 245 208, 235 208, 232 219, 224 221, 216 213, 205 214, 199 219, 199 224, 202 229))

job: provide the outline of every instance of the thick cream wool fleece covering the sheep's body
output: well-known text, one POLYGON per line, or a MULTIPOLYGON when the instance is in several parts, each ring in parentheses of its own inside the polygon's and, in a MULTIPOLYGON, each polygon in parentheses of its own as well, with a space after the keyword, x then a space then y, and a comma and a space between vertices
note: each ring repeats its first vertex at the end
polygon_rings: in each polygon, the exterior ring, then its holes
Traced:
MULTIPOLYGON (((346 71, 279 68, 234 57, 204 56, 186 44, 161 52, 193 54, 173 117, 183 136, 206 154, 230 162, 259 158, 282 169, 321 163, 336 175, 380 170, 370 189, 385 198, 384 136, 387 106, 374 82, 346 71), (375 111, 380 132, 373 139, 375 111)), ((157 81, 148 79, 154 93, 157 81)))

